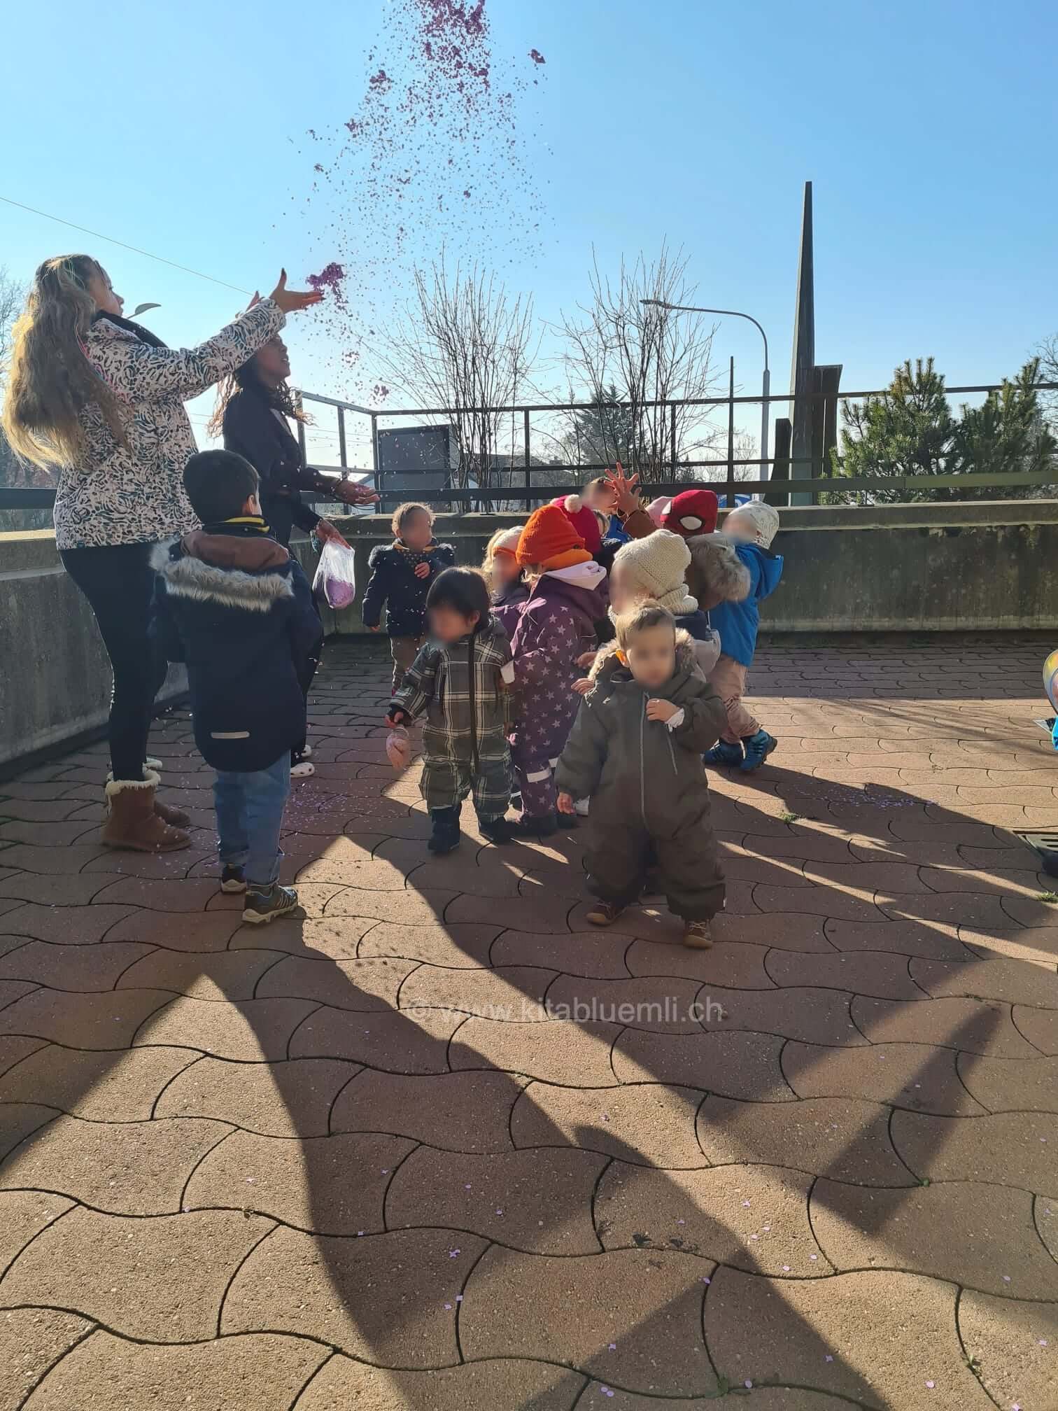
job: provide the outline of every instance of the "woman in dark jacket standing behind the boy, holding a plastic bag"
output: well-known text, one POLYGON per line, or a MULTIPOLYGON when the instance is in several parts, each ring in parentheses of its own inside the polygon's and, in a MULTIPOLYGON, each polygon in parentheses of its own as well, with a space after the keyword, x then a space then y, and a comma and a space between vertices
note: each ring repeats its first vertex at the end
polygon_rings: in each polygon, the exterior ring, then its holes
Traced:
MULTIPOLYGON (((289 546, 295 528, 316 535, 322 543, 348 547, 334 525, 305 504, 302 490, 319 490, 353 505, 374 504, 378 495, 351 481, 329 480, 309 468, 288 420, 305 420, 305 413, 286 384, 289 375, 286 344, 275 333, 221 384, 217 409, 209 423, 210 435, 223 435, 224 450, 233 450, 248 460, 261 477, 261 515, 272 538, 284 547, 289 546)), ((319 646, 302 673, 306 708, 322 649, 323 628, 319 646)), ((303 779, 316 772, 309 762, 310 753, 310 746, 302 738, 291 752, 292 777, 303 779)))

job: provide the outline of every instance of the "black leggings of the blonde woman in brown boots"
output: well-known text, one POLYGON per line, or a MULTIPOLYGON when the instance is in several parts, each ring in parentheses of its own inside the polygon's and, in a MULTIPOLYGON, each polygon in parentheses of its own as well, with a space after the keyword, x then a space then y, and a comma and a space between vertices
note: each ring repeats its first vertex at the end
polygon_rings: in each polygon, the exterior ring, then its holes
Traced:
POLYGON ((110 768, 114 779, 142 779, 154 697, 166 663, 148 634, 152 543, 62 549, 62 566, 89 600, 114 672, 110 696, 110 768))

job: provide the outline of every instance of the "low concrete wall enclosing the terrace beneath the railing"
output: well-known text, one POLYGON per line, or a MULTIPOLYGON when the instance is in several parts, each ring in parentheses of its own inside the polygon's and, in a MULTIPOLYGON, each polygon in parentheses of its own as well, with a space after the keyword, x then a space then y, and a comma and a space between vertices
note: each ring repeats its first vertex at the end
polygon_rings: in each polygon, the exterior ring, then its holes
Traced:
MULTIPOLYGON (((765 631, 1058 632, 1058 501, 976 501, 780 511, 786 559, 763 605, 765 631)), ((443 515, 437 536, 460 563, 519 515, 443 515)), ((364 635, 358 601, 367 556, 389 542, 388 521, 341 521, 357 550, 357 605, 324 608, 329 632, 364 635)), ((308 542, 295 546, 312 574, 308 542)), ((0 768, 106 721, 110 670, 87 604, 62 571, 51 532, 0 535, 0 768)), ((169 674, 162 698, 183 690, 169 674)))

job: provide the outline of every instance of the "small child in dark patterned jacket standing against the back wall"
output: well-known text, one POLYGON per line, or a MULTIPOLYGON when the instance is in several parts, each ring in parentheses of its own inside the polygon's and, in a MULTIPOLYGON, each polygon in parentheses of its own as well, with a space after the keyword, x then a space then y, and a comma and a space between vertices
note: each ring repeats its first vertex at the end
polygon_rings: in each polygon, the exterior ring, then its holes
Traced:
POLYGON ((377 632, 385 602, 395 696, 426 636, 426 594, 437 574, 453 566, 456 550, 434 540, 429 505, 398 505, 392 531, 392 545, 387 549, 379 543, 367 560, 371 579, 360 615, 364 626, 377 632))

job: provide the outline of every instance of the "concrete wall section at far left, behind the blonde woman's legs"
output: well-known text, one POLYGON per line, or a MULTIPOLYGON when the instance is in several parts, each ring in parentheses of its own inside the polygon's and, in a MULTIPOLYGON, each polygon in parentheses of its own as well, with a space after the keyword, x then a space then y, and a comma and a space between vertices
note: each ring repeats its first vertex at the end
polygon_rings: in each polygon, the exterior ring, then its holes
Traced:
MULTIPOLYGON (((0 766, 106 724, 110 663, 51 531, 0 535, 0 766)), ((174 667, 159 700, 185 690, 174 667)))

